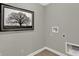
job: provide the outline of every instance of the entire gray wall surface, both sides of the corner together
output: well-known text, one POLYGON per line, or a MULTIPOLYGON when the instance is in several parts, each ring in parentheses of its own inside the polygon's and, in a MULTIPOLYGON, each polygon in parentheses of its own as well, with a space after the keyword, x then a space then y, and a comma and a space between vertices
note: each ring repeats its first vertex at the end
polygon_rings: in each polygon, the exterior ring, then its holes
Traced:
POLYGON ((0 55, 28 55, 44 46, 65 53, 66 41, 79 44, 79 4, 10 5, 34 11, 35 29, 0 33, 0 55), (59 26, 59 33, 52 33, 52 26, 59 26))

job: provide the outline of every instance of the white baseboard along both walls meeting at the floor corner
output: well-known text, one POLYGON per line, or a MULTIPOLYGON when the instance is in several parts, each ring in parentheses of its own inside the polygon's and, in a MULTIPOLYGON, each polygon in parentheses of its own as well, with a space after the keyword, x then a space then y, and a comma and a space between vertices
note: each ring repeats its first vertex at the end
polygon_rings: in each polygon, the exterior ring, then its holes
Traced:
POLYGON ((56 51, 56 50, 53 50, 53 49, 51 49, 51 48, 48 48, 48 47, 43 47, 43 48, 41 48, 41 49, 39 49, 39 50, 37 50, 37 51, 35 51, 35 52, 33 52, 33 53, 27 55, 27 56, 34 56, 34 55, 40 53, 41 51, 43 51, 43 50, 45 50, 45 49, 48 50, 48 51, 51 51, 51 52, 53 52, 53 53, 55 53, 55 54, 57 54, 57 55, 59 55, 59 56, 67 56, 67 55, 65 55, 65 54, 63 54, 63 53, 60 53, 60 52, 58 52, 58 51, 56 51))

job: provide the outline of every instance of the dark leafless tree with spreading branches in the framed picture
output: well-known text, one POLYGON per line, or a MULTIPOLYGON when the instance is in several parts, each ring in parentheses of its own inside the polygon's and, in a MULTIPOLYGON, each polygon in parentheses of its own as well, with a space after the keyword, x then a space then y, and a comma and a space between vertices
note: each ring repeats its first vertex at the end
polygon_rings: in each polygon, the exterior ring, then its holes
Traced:
POLYGON ((30 18, 27 17, 27 15, 25 15, 24 13, 21 13, 21 12, 14 13, 14 12, 12 12, 8 16, 7 22, 11 23, 11 24, 18 23, 20 25, 20 27, 22 26, 22 24, 25 24, 26 26, 28 26, 29 23, 30 23, 30 18))

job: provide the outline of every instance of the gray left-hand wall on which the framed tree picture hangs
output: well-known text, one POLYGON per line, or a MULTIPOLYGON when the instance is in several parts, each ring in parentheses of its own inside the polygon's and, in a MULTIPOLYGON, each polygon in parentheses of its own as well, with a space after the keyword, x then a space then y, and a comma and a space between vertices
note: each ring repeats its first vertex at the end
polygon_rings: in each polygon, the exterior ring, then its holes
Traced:
POLYGON ((34 11, 34 30, 0 33, 0 55, 28 55, 44 46, 44 8, 40 4, 14 3, 15 7, 34 11))

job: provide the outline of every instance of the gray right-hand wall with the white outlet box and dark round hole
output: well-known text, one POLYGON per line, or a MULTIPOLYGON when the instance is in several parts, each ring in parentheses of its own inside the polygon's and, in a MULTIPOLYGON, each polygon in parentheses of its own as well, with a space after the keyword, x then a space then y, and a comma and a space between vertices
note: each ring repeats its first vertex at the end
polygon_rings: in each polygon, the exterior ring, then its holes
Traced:
POLYGON ((46 7, 46 46, 65 53, 65 42, 79 44, 79 4, 49 4, 46 7), (59 27, 53 33, 52 26, 59 27), (62 35, 65 34, 65 38, 62 35))

